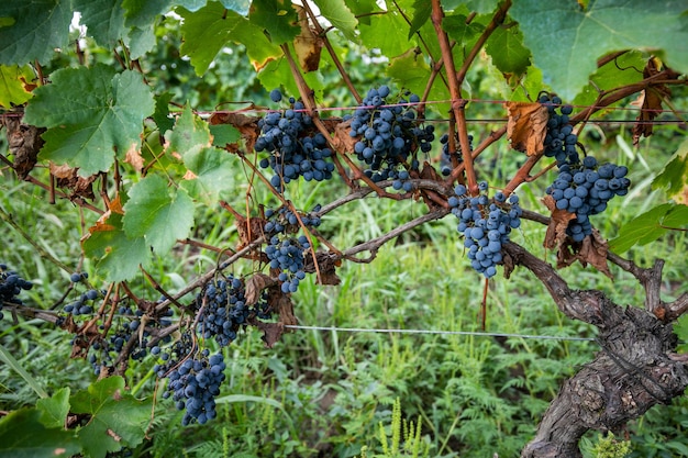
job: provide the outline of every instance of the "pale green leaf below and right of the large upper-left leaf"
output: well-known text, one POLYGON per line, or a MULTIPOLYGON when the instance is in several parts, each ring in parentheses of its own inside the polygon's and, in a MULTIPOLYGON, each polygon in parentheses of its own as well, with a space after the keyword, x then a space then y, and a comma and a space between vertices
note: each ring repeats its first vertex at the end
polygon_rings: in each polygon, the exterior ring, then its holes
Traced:
POLYGON ((124 233, 144 237, 159 254, 186 238, 193 225, 193 201, 181 189, 168 187, 164 178, 148 175, 129 190, 124 204, 124 233))

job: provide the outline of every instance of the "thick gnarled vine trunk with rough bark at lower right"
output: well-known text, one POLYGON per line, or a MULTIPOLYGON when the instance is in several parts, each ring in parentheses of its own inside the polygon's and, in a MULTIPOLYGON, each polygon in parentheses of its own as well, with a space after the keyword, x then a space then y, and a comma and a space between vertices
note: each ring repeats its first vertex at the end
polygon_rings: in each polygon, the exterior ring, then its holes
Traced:
MULTIPOLYGON (((657 317, 657 308, 670 304, 621 306, 599 291, 576 291, 543 260, 509 244, 508 267, 522 265, 546 286, 567 316, 600 331, 600 351, 567 380, 545 413, 524 458, 578 458, 578 443, 588 429, 614 431, 658 403, 668 403, 688 387, 688 370, 673 354, 672 324, 657 317), (651 313, 647 309, 655 313, 651 313)), ((645 271, 661 276, 661 268, 645 271)), ((648 281, 657 286, 659 282, 648 281)), ((658 292, 652 294, 658 298, 658 292)), ((663 315, 663 314, 659 314, 663 315)))

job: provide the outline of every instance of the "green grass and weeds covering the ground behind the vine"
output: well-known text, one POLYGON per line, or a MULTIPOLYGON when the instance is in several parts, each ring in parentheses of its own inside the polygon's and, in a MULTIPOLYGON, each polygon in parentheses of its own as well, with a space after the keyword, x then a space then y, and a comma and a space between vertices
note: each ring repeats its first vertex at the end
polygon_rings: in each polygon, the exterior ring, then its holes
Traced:
MULTIPOLYGON (((621 156, 610 159, 631 159, 621 156)), ((657 161, 647 160, 652 167, 657 161)), ((493 178, 508 174, 504 160, 493 178)), ((652 169, 632 169, 634 182, 647 181, 652 169)), ((493 181, 493 180, 492 180, 493 181)), ((497 182, 497 181, 495 181, 497 182)), ((604 236, 615 234, 646 205, 658 201, 647 188, 635 199, 613 202, 596 224, 604 236), (650 197, 648 197, 650 196, 650 197), (629 202, 629 203, 626 203, 629 202), (650 203, 647 203, 650 202, 650 203)), ((31 241, 3 224, 0 258, 36 283, 27 302, 49 308, 69 288, 68 273, 35 256, 35 245, 76 269, 80 262, 81 215, 73 204, 45 203, 45 196, 27 183, 5 177, 0 185, 0 210, 29 227, 31 241)), ((312 208, 334 196, 335 186, 302 187, 293 192, 299 208, 312 208)), ((519 190, 524 208, 542 210, 537 186, 519 190)), ((260 197, 258 197, 260 198, 260 197)), ((243 209, 244 196, 236 196, 243 209)), ((420 202, 397 203, 375 197, 349 203, 323 219, 321 232, 345 248, 398 226, 424 212, 420 202)), ((93 215, 85 215, 84 226, 93 215)), ((218 246, 233 246, 236 230, 225 213, 209 209, 199 216, 195 237, 218 246)), ((544 227, 526 223, 512 239, 536 256, 553 261, 542 248, 544 227)), ((685 234, 672 234, 658 244, 634 247, 626 255, 640 265, 655 257, 666 259, 666 298, 686 291, 685 234)), ((159 258, 151 272, 174 292, 218 261, 213 252, 184 246, 174 256, 159 258)), ((93 266, 84 259, 82 270, 98 281, 93 266)), ((249 273, 257 266, 237 265, 234 273, 249 273)), ((643 292, 633 278, 612 267, 614 280, 590 267, 573 266, 562 275, 573 288, 596 288, 619 303, 641 305, 643 292)), ((479 329, 484 280, 469 267, 455 221, 447 216, 404 234, 386 245, 370 264, 345 262, 337 275, 341 284, 318 286, 313 276, 295 294, 295 312, 302 325, 407 328, 437 331, 479 329)), ((157 298, 141 278, 132 288, 157 298)), ((68 297, 78 294, 70 291, 68 297)), ((593 337, 595 329, 563 316, 529 272, 518 269, 510 280, 490 280, 487 331, 493 333, 593 337)), ((49 325, 0 323, 0 343, 10 348, 32 380, 48 394, 69 386, 86 387, 95 379, 90 365, 69 359, 69 337, 49 325)), ((209 344, 211 345, 211 344, 209 344)), ((182 428, 181 415, 171 402, 157 401, 149 440, 133 450, 146 457, 336 457, 381 454, 379 427, 388 429, 392 407, 400 400, 406 420, 420 418, 421 440, 432 457, 518 456, 532 438, 537 422, 562 382, 590 360, 597 347, 590 342, 495 338, 463 335, 374 334, 295 331, 267 349, 256 329, 242 333, 224 350, 228 381, 219 417, 204 425, 182 428)), ((136 395, 153 395, 153 361, 132 364, 127 386, 136 395)), ((162 390, 158 387, 157 394, 162 390)), ((7 365, 0 366, 0 410, 35 403, 37 394, 7 365)), ((670 456, 685 443, 688 403, 652 410, 632 422, 632 456, 670 456), (677 445, 678 444, 678 445, 677 445), (655 454, 655 455, 652 455, 655 454)), ((586 437, 590 455, 597 433, 586 437)))

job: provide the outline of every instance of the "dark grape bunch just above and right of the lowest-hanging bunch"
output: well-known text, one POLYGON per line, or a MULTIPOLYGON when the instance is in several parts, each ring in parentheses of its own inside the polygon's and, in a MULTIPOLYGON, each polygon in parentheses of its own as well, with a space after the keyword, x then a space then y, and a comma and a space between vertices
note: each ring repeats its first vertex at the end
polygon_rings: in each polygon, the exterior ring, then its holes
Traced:
POLYGON ((232 275, 207 284, 203 293, 196 299, 196 308, 201 311, 199 334, 204 338, 214 338, 221 347, 236 338, 240 327, 251 316, 269 317, 266 302, 246 305, 244 282, 232 275))

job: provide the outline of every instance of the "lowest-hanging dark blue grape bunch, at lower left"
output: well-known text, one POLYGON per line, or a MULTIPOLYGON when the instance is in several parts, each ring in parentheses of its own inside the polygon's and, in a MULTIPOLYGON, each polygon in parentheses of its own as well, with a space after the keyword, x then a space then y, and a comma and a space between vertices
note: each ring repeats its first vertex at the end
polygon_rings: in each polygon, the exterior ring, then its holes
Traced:
POLYGON ((200 355, 181 360, 169 371, 169 383, 163 396, 171 395, 177 410, 186 409, 181 418, 184 426, 193 421, 202 425, 217 416, 215 398, 220 394, 225 368, 221 353, 210 355, 204 349, 200 355))

